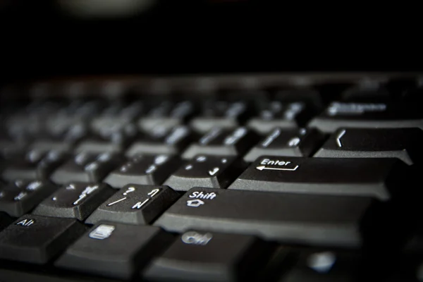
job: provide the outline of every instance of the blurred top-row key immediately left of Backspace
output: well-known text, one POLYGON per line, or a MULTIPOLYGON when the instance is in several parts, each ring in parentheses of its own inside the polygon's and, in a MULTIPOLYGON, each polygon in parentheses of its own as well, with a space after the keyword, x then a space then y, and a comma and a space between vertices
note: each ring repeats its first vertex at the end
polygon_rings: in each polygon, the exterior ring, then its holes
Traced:
POLYGON ((257 133, 267 134, 276 127, 293 129, 305 125, 309 115, 304 102, 273 101, 260 111, 258 118, 250 119, 247 126, 257 133))

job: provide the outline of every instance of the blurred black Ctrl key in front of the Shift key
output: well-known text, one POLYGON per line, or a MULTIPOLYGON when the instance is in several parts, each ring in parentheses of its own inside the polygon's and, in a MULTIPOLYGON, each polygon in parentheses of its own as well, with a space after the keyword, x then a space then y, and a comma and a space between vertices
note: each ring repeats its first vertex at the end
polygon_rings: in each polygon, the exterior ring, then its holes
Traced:
POLYGON ((144 277, 154 281, 253 281, 268 252, 269 245, 253 236, 188 231, 154 259, 144 277))

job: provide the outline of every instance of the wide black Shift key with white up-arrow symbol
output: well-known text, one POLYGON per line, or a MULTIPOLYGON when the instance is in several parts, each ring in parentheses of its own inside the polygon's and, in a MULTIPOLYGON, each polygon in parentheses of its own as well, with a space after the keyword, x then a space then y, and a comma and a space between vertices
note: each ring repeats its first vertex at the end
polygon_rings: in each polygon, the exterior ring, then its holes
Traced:
POLYGON ((362 219, 376 203, 371 197, 192 188, 154 226, 174 232, 200 229, 286 243, 358 247, 362 219))

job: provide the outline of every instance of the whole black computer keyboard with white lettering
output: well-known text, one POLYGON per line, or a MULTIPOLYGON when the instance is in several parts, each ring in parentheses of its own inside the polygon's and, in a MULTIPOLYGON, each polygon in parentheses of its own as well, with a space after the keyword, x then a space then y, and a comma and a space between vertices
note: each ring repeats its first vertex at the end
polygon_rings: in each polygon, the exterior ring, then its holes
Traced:
POLYGON ((5 88, 1 282, 423 281, 419 75, 146 81, 5 88))

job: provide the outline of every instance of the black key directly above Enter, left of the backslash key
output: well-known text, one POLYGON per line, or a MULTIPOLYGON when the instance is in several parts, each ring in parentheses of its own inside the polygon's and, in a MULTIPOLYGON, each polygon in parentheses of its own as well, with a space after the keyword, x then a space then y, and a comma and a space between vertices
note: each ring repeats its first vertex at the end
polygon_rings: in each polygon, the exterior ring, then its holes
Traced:
POLYGON ((255 161, 263 155, 309 157, 323 142, 317 130, 283 130, 275 128, 259 144, 245 154, 244 161, 255 161))

